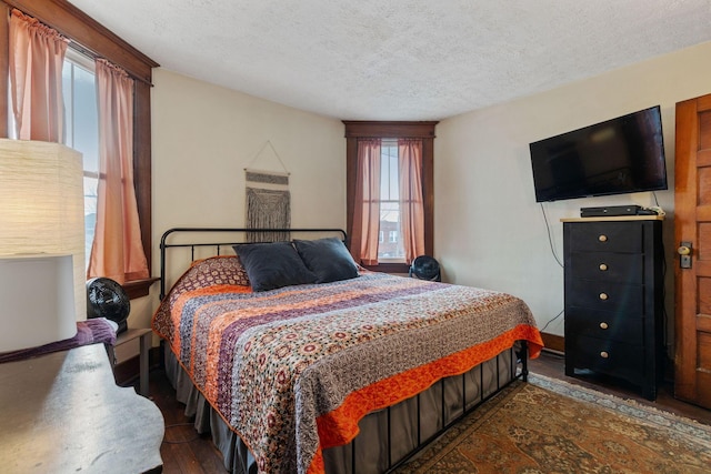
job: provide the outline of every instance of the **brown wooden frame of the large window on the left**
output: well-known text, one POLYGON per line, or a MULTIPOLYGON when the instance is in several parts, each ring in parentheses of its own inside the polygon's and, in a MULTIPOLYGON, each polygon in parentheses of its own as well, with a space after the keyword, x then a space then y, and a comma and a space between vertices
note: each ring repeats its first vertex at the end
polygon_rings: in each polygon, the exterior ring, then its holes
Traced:
MULTIPOLYGON (((124 69, 134 80, 133 89, 133 186, 141 225, 141 242, 151 272, 151 108, 150 89, 152 69, 158 64, 91 17, 66 0, 0 0, 0 14, 9 18, 17 8, 37 18, 71 40, 71 47, 90 57, 106 58, 124 69)), ((0 137, 8 137, 9 102, 9 26, 0 21, 0 137)), ((148 295, 150 285, 158 279, 149 278, 126 282, 123 289, 130 297, 148 295)))

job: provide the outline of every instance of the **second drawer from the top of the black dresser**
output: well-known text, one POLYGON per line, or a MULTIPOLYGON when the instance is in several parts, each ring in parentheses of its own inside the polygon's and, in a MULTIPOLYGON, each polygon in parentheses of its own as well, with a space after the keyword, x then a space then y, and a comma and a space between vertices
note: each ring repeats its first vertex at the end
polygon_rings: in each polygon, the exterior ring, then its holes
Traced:
POLYGON ((641 284, 644 276, 641 253, 573 252, 570 254, 570 276, 641 284))

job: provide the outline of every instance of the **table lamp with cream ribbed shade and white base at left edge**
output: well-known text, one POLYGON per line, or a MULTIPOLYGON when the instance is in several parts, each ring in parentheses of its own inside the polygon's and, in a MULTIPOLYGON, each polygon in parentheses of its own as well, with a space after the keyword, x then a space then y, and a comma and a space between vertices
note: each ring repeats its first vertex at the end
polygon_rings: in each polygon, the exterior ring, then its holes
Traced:
POLYGON ((0 352, 74 336, 86 281, 81 154, 0 139, 0 352))

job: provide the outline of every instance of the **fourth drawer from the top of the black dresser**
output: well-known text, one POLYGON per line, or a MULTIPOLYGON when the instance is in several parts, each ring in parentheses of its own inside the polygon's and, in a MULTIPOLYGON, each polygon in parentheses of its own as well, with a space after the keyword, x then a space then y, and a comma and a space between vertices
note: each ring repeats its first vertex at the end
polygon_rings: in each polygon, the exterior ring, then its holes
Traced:
POLYGON ((575 333, 632 345, 644 343, 644 320, 638 314, 610 313, 585 307, 565 309, 565 333, 575 333))

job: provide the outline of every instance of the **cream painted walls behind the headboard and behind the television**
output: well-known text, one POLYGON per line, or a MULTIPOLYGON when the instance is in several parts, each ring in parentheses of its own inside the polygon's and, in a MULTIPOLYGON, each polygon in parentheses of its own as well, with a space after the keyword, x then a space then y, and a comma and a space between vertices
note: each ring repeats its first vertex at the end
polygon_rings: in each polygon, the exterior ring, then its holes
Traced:
MULTIPOLYGON (((563 272, 552 256, 541 206, 534 200, 528 144, 660 104, 673 190, 674 103, 711 92, 710 57, 711 43, 705 43, 441 121, 434 140, 434 256, 444 279, 521 296, 544 326, 563 307, 563 272)), ((164 230, 244 223, 243 169, 267 141, 291 172, 292 224, 346 225, 346 141, 340 121, 163 69, 156 70, 153 79, 154 274, 164 230)), ((267 168, 278 167, 273 157, 267 161, 267 168)), ((673 191, 657 195, 668 212, 671 329, 673 191)), ((559 258, 561 218, 578 216, 581 206, 627 203, 650 205, 652 198, 641 193, 543 204, 559 258)), ((150 325, 157 286, 150 296, 131 302, 129 325, 150 325)), ((545 332, 562 335, 562 317, 545 332)))

